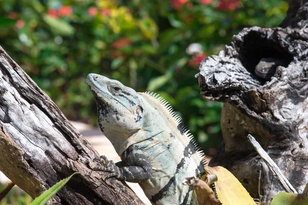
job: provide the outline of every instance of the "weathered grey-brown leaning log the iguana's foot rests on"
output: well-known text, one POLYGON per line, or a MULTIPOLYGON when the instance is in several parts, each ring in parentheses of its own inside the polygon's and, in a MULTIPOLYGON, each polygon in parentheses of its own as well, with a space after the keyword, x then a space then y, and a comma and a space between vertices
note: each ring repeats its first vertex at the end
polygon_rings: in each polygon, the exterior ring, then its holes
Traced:
POLYGON ((0 170, 32 198, 80 172, 49 204, 143 204, 125 182, 91 171, 98 152, 1 47, 0 152, 0 170))

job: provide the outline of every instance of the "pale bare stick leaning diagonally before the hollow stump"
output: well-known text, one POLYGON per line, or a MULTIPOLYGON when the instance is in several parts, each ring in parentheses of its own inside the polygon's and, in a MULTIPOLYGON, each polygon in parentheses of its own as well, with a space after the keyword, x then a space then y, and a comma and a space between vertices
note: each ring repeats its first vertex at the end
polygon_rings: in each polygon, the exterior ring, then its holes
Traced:
POLYGON ((297 193, 297 191, 294 189, 291 183, 282 174, 281 170, 273 161, 273 159, 271 159, 271 157, 269 157, 268 154, 262 149, 259 142, 257 142, 257 140, 250 134, 248 134, 247 138, 249 142, 251 142, 251 144, 254 146, 255 150, 259 153, 259 155, 266 163, 267 167, 272 172, 276 180, 280 183, 282 188, 288 193, 297 193))

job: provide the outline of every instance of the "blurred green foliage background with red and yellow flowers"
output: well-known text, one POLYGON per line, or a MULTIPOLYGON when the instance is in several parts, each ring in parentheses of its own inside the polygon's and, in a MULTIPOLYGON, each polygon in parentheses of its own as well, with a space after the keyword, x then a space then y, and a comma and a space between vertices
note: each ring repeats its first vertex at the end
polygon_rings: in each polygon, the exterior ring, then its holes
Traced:
POLYGON ((98 73, 138 92, 159 93, 210 156, 221 140, 222 104, 200 95, 194 77, 199 63, 245 27, 277 26, 288 8, 282 0, 0 0, 0 5, 0 45, 68 119, 97 126, 86 76, 98 73))

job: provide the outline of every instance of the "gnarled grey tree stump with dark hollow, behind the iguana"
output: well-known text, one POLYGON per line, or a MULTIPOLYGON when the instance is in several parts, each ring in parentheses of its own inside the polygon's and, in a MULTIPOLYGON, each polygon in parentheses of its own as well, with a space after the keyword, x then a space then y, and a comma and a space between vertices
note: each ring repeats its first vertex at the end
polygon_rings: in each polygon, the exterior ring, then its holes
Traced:
POLYGON ((308 1, 291 1, 275 28, 243 29, 196 75, 201 94, 224 103, 224 143, 211 166, 231 171, 253 197, 269 203, 279 183, 247 140, 252 134, 298 192, 308 181, 308 1))

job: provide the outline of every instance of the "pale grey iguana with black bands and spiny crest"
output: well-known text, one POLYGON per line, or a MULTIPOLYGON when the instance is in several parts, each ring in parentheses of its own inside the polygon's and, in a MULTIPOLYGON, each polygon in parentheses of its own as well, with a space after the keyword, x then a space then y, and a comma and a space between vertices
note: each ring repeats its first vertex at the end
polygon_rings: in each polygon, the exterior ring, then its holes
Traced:
POLYGON ((203 154, 167 101, 153 93, 137 93, 117 80, 89 74, 87 83, 98 107, 101 131, 122 161, 97 158, 110 172, 138 182, 152 204, 198 204, 185 177, 202 177, 203 154))

